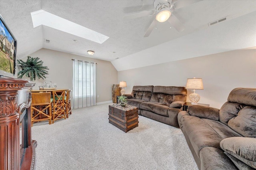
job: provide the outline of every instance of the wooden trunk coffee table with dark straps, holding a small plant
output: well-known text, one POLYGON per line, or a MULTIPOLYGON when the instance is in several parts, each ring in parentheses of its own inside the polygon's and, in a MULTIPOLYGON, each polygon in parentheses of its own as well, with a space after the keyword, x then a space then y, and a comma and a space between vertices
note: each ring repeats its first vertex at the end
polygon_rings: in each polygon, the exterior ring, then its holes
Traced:
POLYGON ((138 107, 130 105, 122 107, 120 104, 109 105, 108 115, 108 122, 125 133, 138 127, 138 107))

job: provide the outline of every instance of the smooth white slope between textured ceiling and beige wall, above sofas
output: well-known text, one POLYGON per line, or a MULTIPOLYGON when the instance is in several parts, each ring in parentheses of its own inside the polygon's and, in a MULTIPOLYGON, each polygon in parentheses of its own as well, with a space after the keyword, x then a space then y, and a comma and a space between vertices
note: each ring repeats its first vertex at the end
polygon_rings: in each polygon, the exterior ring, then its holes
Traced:
MULTIPOLYGON (((229 16, 230 17, 230 16, 229 16)), ((166 43, 112 61, 116 70, 179 61, 256 46, 256 12, 214 24, 166 43), (239 24, 238 24, 239 23, 239 24)), ((166 34, 166 36, 170 36, 166 34)), ((159 37, 161 38, 161 37, 159 37)))

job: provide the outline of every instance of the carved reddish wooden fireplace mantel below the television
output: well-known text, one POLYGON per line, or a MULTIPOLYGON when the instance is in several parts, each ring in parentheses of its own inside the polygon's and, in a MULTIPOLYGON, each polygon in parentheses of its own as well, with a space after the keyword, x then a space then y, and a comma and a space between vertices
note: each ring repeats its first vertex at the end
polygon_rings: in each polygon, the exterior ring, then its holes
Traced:
POLYGON ((34 85, 20 78, 0 77, 1 170, 34 169, 37 143, 31 139, 30 117, 30 89, 34 85))

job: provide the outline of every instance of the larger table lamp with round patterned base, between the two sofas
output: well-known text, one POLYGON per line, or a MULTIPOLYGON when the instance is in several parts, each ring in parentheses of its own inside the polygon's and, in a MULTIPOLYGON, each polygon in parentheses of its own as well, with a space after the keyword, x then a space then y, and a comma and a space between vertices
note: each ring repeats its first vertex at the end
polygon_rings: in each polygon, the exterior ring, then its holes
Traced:
POLYGON ((200 100, 199 94, 196 94, 195 91, 197 90, 203 90, 204 85, 202 78, 188 78, 187 84, 186 84, 187 89, 193 89, 193 93, 191 93, 188 98, 191 101, 191 104, 197 104, 200 100))

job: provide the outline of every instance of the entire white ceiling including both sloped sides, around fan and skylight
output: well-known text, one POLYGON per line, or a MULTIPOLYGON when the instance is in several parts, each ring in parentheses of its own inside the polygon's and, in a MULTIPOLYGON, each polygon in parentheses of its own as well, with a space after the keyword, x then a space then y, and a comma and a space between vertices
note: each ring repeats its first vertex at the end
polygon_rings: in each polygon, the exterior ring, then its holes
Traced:
POLYGON ((256 46, 255 0, 202 0, 174 11, 184 31, 158 22, 144 38, 155 16, 123 17, 152 10, 153 4, 154 0, 0 0, 0 14, 18 41, 18 59, 46 48, 111 61, 119 71, 256 46), (38 10, 110 38, 99 44, 44 25, 34 28, 30 13, 38 10), (223 23, 208 27, 226 16, 223 23), (89 56, 87 50, 95 54, 89 56))

